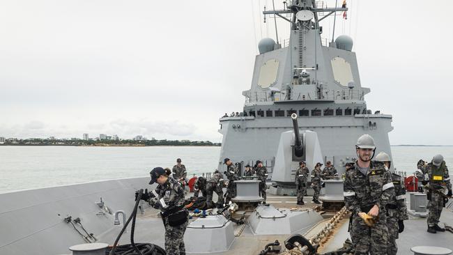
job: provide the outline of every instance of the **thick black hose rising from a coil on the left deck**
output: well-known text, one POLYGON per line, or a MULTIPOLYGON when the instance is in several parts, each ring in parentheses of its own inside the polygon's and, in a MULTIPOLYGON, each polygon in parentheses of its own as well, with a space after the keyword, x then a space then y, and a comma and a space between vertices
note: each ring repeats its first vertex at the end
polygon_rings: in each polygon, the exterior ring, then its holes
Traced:
POLYGON ((138 243, 135 244, 134 242, 134 233, 135 233, 135 219, 137 218, 137 208, 139 207, 141 195, 143 194, 143 189, 139 190, 139 194, 137 196, 137 199, 135 201, 135 206, 134 210, 132 210, 132 214, 128 218, 128 221, 124 224, 123 229, 121 229, 120 233, 118 234, 118 237, 116 237, 116 240, 114 242, 113 247, 110 249, 108 248, 106 251, 106 255, 166 255, 167 252, 165 252, 162 247, 159 247, 158 245, 153 245, 151 243, 138 243), (121 235, 123 235, 126 227, 132 220, 132 227, 130 231, 130 245, 118 245, 118 241, 121 238, 121 235))

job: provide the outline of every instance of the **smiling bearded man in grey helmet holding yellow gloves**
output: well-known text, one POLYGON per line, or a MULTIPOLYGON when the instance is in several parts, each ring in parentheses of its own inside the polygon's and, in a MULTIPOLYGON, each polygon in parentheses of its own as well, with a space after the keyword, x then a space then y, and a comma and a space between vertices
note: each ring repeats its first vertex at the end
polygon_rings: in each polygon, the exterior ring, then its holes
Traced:
POLYGON ((392 175, 381 162, 371 162, 376 146, 369 134, 359 137, 355 168, 346 173, 344 203, 353 214, 355 254, 387 254, 385 206, 394 196, 392 175))

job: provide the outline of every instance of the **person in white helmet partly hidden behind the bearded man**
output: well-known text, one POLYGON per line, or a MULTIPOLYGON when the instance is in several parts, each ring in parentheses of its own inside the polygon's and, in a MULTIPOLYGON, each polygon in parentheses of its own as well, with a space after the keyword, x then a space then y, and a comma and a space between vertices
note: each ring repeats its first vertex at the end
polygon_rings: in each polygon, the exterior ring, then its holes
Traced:
MULTIPOLYGON (((392 164, 390 156, 384 152, 376 155, 376 161, 383 162, 385 170, 387 171, 390 169, 390 164, 392 164)), ((404 201, 404 195, 406 194, 404 182, 401 181, 401 176, 397 175, 397 173, 392 173, 392 182, 394 185, 395 195, 392 197, 390 202, 387 203, 387 206, 385 206, 385 208, 387 208, 388 255, 397 254, 398 235, 404 231, 404 220, 409 219, 406 201, 404 201)))

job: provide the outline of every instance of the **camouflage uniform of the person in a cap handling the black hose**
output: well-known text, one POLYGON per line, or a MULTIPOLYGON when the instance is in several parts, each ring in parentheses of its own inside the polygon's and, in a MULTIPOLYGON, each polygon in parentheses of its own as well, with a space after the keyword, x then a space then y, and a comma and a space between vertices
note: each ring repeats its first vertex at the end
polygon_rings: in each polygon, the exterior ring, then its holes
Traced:
POLYGON ((167 254, 185 254, 184 233, 187 228, 189 213, 183 207, 184 190, 183 187, 169 177, 163 185, 158 185, 155 190, 157 198, 151 199, 151 206, 160 209, 162 221, 165 227, 165 251, 167 254), (187 220, 179 226, 170 226, 168 216, 174 212, 187 212, 187 220))

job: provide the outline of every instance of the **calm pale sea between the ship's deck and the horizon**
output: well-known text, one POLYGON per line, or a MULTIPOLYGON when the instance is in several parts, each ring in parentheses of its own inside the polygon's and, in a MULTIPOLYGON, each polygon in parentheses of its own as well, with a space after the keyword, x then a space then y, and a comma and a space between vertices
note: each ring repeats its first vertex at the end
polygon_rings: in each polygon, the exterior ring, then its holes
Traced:
MULTIPOLYGON (((437 153, 453 165, 453 147, 393 146, 394 165, 413 172, 437 153)), ((173 167, 181 157, 189 173, 212 172, 220 147, 0 146, 0 193, 94 180, 147 177, 153 167, 173 167)), ((450 167, 453 169, 453 167, 450 167)), ((452 171, 452 170, 450 170, 452 171)))

